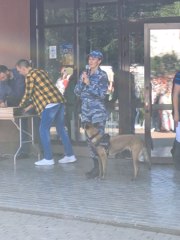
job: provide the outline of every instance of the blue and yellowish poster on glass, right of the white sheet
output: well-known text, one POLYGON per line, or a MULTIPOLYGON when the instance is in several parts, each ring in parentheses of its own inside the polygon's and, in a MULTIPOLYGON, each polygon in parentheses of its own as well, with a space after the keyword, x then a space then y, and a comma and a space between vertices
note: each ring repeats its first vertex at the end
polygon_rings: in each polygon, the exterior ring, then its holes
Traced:
POLYGON ((60 45, 60 56, 63 65, 74 64, 73 45, 70 43, 60 45))

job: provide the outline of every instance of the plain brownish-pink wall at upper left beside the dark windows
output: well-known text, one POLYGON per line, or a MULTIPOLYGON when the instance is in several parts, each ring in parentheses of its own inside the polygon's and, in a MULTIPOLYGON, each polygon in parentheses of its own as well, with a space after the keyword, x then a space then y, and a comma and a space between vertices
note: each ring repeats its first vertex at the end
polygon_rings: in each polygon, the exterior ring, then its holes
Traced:
POLYGON ((0 0, 0 64, 30 57, 30 0, 0 0))

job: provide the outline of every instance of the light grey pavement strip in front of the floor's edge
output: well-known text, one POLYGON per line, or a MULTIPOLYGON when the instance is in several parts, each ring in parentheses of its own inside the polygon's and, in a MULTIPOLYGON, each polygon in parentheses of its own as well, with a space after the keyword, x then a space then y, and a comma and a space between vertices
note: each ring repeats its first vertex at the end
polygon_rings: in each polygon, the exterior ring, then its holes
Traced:
POLYGON ((0 210, 5 240, 179 240, 179 236, 70 219, 0 210))

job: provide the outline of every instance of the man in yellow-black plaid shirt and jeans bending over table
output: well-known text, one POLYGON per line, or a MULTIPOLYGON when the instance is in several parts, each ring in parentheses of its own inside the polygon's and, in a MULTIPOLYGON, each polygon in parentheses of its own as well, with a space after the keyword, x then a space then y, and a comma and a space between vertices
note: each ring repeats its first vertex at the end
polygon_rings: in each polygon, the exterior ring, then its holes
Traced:
POLYGON ((70 162, 75 162, 72 145, 64 125, 64 103, 65 99, 57 87, 49 79, 46 71, 42 69, 33 69, 29 61, 21 59, 17 62, 16 68, 25 79, 25 94, 19 104, 20 107, 29 110, 34 107, 40 115, 40 141, 43 148, 44 158, 35 162, 35 165, 53 165, 54 159, 50 143, 50 128, 55 122, 56 130, 61 139, 65 157, 70 162), (29 101, 32 105, 29 107, 29 101))

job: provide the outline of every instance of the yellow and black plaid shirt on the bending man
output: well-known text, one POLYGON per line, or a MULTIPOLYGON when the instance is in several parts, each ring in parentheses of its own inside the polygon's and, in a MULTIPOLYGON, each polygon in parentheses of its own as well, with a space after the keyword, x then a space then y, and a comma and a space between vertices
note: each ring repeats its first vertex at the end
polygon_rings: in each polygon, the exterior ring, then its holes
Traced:
POLYGON ((31 69, 25 81, 25 94, 19 104, 20 107, 26 107, 31 101, 37 113, 40 114, 49 103, 65 102, 63 95, 44 70, 31 69))

